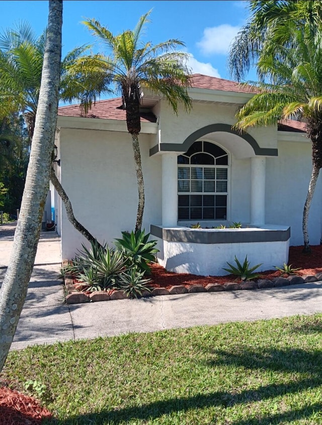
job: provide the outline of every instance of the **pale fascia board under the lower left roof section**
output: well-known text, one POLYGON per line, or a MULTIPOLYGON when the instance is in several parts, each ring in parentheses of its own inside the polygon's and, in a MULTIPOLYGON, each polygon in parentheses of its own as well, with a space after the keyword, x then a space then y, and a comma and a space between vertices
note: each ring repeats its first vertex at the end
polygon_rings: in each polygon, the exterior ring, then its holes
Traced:
MULTIPOLYGON (((141 121, 141 133, 156 134, 156 122, 141 121)), ((58 128, 74 128, 82 130, 123 131, 128 132, 126 121, 120 119, 69 117, 58 115, 58 128)))

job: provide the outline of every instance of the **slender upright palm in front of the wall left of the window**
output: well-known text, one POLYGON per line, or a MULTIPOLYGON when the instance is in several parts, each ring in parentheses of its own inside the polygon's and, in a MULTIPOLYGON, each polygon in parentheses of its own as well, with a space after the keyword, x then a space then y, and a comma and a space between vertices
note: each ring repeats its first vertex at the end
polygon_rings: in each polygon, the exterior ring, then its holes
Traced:
MULTIPOLYGON (((141 130, 142 89, 164 96, 177 114, 178 102, 183 102, 186 110, 191 108, 191 99, 187 93, 190 86, 186 67, 187 55, 176 50, 184 44, 179 40, 168 40, 154 46, 150 42, 144 44, 143 29, 149 14, 150 12, 139 19, 133 31, 126 30, 118 35, 113 35, 94 19, 85 21, 84 24, 93 35, 103 42, 107 55, 96 54, 79 58, 72 73, 76 78, 78 75, 90 73, 95 77, 95 81, 100 82, 101 90, 93 92, 92 95, 100 95, 112 85, 122 95, 127 129, 132 138, 138 187, 135 231, 141 229, 144 209, 144 182, 138 140, 141 130)), ((93 100, 91 97, 86 99, 89 103, 93 100)))

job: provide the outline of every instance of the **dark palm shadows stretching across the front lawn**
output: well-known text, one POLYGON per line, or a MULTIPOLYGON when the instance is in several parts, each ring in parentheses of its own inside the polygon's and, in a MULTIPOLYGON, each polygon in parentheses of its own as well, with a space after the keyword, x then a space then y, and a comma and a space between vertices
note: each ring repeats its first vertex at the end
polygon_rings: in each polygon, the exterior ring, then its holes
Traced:
MULTIPOLYGON (((179 411, 185 412, 188 410, 198 410, 212 406, 221 406, 225 409, 228 407, 238 405, 242 406, 243 404, 247 405, 252 402, 269 399, 273 402, 276 397, 298 394, 301 391, 305 391, 307 389, 312 390, 322 385, 322 352, 320 350, 307 352, 301 349, 290 348, 289 350, 271 349, 259 352, 243 349, 240 353, 216 350, 213 351, 213 354, 216 359, 206 365, 208 368, 220 367, 221 365, 233 365, 236 368, 243 368, 243 373, 247 373, 247 371, 245 372, 245 369, 250 369, 250 373, 251 370, 284 372, 290 374, 289 381, 281 384, 273 383, 262 385, 255 389, 245 389, 240 392, 209 392, 208 394, 196 394, 192 397, 170 398, 138 406, 117 408, 115 410, 106 409, 97 413, 70 416, 65 420, 55 419, 54 421, 47 423, 54 423, 57 425, 109 423, 111 425, 117 425, 121 422, 127 423, 129 420, 133 420, 135 423, 139 423, 140 421, 145 423, 147 420, 153 421, 163 415, 171 415, 174 412, 179 411), (295 374, 299 374, 297 379, 295 374), (305 378, 300 375, 303 375, 305 378)), ((238 369, 236 369, 235 374, 238 374, 238 369)), ((285 381, 287 376, 284 376, 283 379, 285 381)), ((295 405, 290 411, 275 411, 272 413, 263 412, 260 419, 259 417, 250 417, 245 420, 241 419, 234 422, 231 421, 229 423, 232 425, 255 425, 257 423, 266 425, 275 423, 278 424, 282 421, 305 419, 311 417, 314 413, 320 415, 318 412, 321 409, 322 402, 312 402, 312 404, 306 402, 304 407, 302 407, 302 405, 295 405)), ((229 415, 228 412, 227 415, 229 415)), ((198 413, 196 413, 195 420, 198 420, 198 413)), ((321 415, 319 416, 319 419, 317 419, 316 423, 322 423, 321 415), (321 420, 321 422, 319 420, 321 420)))

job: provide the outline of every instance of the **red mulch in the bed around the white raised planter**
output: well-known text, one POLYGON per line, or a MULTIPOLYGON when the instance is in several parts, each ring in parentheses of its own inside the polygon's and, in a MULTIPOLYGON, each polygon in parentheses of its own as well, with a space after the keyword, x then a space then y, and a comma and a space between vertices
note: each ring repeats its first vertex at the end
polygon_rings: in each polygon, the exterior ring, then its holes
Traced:
MULTIPOLYGON (((322 273, 322 245, 311 246, 310 254, 303 254, 302 250, 302 246, 291 246, 289 250, 288 264, 292 264, 292 268, 300 267, 300 270, 296 274, 302 276, 322 273)), ((185 285, 188 287, 196 284, 205 287, 208 284, 216 283, 223 285, 236 280, 236 276, 232 274, 226 276, 198 276, 188 273, 173 273, 167 271, 159 264, 152 264, 151 269, 152 275, 149 277, 152 279, 150 285, 153 288, 170 289, 174 285, 185 285)), ((260 277, 271 280, 282 275, 280 271, 275 269, 262 271, 259 274, 260 277)))

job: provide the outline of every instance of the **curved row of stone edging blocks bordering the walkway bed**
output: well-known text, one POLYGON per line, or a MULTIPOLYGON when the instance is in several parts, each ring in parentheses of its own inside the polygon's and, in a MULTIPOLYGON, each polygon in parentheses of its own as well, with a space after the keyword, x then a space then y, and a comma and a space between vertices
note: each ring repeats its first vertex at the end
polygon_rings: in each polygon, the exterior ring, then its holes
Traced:
MULTIPOLYGON (((175 294, 192 294, 197 292, 221 292, 221 291, 238 291, 238 290, 254 290, 254 289, 265 289, 265 288, 280 288, 289 285, 300 285, 311 282, 322 280, 322 273, 318 273, 314 276, 288 276, 288 277, 276 277, 273 280, 259 279, 257 281, 249 280, 242 284, 236 284, 235 282, 228 282, 224 285, 219 284, 208 284, 206 287, 202 285, 191 285, 187 289, 184 285, 177 285, 171 287, 169 290, 165 288, 154 288, 151 292, 144 291, 141 297, 154 297, 157 295, 175 295, 175 294)), ((92 292, 90 295, 78 292, 74 289, 72 278, 65 277, 65 293, 66 293, 66 304, 81 304, 97 301, 110 301, 110 300, 122 300, 128 299, 127 295, 123 290, 113 291, 108 294, 105 291, 92 292)))

